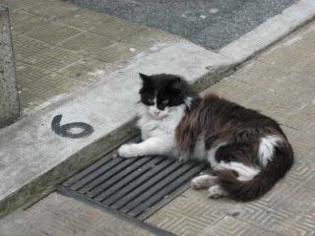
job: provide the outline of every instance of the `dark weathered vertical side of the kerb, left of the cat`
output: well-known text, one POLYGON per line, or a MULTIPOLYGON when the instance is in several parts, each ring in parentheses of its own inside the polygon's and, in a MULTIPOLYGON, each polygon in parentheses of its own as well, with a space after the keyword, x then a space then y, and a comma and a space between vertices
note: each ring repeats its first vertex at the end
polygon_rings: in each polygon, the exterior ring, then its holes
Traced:
POLYGON ((18 191, 9 195, 0 202, 0 219, 11 211, 25 206, 25 204, 26 207, 31 206, 45 197, 47 193, 52 192, 64 180, 137 135, 139 131, 135 128, 135 122, 136 120, 132 119, 113 132, 83 147, 50 171, 31 180, 18 191))

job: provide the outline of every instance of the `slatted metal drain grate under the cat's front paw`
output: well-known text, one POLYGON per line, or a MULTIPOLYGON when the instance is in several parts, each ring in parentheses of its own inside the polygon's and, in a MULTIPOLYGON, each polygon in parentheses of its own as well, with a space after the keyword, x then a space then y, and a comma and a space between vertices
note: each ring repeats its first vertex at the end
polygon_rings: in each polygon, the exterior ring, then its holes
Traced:
MULTIPOLYGON (((138 141, 137 137, 133 141, 138 141)), ((129 216, 145 219, 189 188, 204 164, 165 156, 112 158, 114 151, 62 185, 129 216)))

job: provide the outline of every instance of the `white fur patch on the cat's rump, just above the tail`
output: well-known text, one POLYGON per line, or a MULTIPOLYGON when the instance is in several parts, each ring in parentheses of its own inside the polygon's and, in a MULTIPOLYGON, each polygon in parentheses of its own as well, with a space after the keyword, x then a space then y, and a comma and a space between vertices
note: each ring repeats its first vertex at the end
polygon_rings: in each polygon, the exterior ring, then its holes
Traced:
POLYGON ((276 135, 268 135, 260 139, 258 158, 261 165, 266 166, 271 161, 275 146, 281 141, 282 138, 276 135))

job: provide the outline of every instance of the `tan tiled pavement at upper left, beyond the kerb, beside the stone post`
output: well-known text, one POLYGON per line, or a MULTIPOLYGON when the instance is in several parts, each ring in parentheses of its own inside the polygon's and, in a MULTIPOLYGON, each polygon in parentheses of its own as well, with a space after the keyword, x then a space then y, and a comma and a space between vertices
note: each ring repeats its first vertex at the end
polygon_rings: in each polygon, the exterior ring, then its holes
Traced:
POLYGON ((0 0, 9 7, 24 114, 54 104, 126 66, 155 44, 179 40, 162 31, 58 0, 0 0))

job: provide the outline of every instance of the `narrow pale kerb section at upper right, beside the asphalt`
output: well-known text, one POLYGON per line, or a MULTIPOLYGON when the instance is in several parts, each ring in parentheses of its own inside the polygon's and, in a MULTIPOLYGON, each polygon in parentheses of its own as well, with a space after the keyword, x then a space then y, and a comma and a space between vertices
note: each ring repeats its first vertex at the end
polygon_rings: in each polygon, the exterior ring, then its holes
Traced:
POLYGON ((315 18, 315 1, 301 0, 256 29, 221 48, 218 53, 240 65, 315 18))

